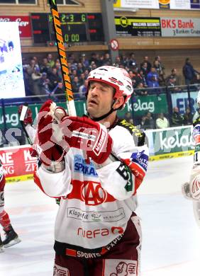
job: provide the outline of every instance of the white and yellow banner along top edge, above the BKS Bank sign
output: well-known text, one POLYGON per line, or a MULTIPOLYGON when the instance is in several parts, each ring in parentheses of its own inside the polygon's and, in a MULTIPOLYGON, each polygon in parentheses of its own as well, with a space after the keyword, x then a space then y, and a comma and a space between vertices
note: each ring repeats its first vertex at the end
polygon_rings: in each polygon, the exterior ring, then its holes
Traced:
POLYGON ((199 0, 115 0, 114 8, 200 9, 199 0))

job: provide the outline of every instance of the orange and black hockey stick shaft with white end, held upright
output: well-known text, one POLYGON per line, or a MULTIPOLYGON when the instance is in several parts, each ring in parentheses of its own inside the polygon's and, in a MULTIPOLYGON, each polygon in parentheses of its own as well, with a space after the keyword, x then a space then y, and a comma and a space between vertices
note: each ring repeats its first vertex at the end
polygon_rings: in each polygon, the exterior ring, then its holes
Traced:
POLYGON ((67 64, 67 57, 65 54, 65 46, 62 38, 62 30, 60 24, 60 17, 57 11, 56 0, 49 0, 50 11, 52 13, 52 23, 55 30, 55 38, 57 42, 57 51, 60 58, 62 78, 65 86, 65 94, 67 100, 67 110, 70 116, 76 116, 76 109, 74 105, 74 97, 72 93, 72 85, 67 64))

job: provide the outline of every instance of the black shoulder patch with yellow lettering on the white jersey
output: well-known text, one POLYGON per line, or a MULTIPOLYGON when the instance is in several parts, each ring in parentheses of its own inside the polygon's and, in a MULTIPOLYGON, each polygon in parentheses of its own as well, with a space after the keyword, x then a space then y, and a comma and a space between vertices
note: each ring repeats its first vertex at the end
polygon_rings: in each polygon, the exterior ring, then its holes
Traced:
POLYGON ((118 120, 117 125, 126 128, 126 130, 130 132, 137 146, 143 146, 146 144, 145 132, 141 131, 138 127, 135 127, 135 125, 130 124, 130 122, 127 122, 125 119, 118 120))

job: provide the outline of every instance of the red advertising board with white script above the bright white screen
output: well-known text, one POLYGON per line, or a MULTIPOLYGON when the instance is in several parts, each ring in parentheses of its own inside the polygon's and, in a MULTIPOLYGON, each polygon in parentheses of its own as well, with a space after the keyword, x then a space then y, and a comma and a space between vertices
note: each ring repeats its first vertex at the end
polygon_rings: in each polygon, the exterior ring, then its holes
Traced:
POLYGON ((0 16, 0 22, 18 22, 20 37, 32 37, 30 16, 0 16))

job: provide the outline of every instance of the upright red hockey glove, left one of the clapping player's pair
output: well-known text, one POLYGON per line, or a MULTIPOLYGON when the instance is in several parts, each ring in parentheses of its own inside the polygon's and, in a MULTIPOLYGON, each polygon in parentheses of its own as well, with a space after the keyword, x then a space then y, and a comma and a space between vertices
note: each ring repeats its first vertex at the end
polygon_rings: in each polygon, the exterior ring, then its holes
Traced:
POLYGON ((62 161, 66 152, 57 144, 56 134, 52 129, 53 108, 52 100, 46 101, 38 113, 38 144, 40 146, 40 160, 47 166, 52 161, 62 161))

